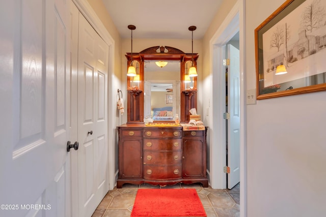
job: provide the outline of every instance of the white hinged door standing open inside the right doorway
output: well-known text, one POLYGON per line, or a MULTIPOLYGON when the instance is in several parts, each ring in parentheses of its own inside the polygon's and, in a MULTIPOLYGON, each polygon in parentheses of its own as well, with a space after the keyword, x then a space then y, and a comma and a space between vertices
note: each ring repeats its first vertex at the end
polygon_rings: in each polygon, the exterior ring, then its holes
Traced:
POLYGON ((240 181, 240 68, 239 50, 228 45, 228 189, 240 181))

